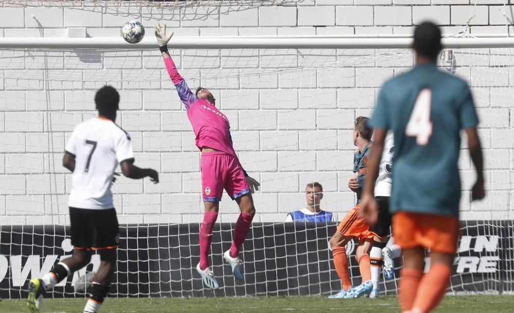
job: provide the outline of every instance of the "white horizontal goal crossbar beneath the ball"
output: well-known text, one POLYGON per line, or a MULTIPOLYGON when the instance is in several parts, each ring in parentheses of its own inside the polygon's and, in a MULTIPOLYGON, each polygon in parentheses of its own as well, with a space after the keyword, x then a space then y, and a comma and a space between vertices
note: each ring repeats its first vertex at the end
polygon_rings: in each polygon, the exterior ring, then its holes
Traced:
MULTIPOLYGON (((411 36, 394 35, 285 35, 285 36, 201 36, 174 37, 169 47, 174 49, 400 49, 409 48, 411 36)), ((481 34, 466 37, 445 37, 442 44, 452 48, 512 48, 514 37, 481 34)), ((148 35, 137 44, 120 38, 0 38, 2 48, 103 48, 154 49, 156 40, 148 35)))

